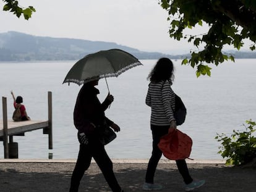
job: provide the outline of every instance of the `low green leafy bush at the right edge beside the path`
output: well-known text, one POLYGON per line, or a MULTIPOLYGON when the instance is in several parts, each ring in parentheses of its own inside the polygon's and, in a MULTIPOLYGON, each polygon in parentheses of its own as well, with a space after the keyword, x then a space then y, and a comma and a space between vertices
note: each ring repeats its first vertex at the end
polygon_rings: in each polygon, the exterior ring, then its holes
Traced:
POLYGON ((226 164, 230 165, 244 165, 252 161, 256 157, 256 138, 252 133, 256 131, 254 126, 255 122, 247 120, 247 127, 245 131, 233 130, 233 135, 230 137, 225 134, 215 137, 216 140, 221 141, 220 151, 218 152, 221 156, 228 157, 226 164))

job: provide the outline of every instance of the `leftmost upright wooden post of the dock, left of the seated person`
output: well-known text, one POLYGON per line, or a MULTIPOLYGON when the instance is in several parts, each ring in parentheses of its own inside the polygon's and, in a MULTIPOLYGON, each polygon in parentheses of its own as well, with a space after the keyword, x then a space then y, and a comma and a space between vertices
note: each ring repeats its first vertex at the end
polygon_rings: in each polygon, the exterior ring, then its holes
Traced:
POLYGON ((4 141, 4 159, 9 159, 8 146, 8 125, 7 125, 7 99, 2 97, 2 124, 3 124, 3 141, 4 141))

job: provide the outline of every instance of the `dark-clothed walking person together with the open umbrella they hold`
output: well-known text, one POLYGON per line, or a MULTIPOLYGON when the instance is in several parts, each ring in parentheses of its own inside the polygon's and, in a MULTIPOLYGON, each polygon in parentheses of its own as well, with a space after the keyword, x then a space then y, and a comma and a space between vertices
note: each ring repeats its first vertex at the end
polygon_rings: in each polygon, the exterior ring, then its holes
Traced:
POLYGON ((95 85, 98 85, 100 78, 106 80, 107 77, 118 77, 121 73, 138 65, 142 64, 129 52, 109 49, 88 54, 77 61, 67 73, 63 83, 83 85, 74 109, 74 124, 78 130, 80 151, 71 177, 70 192, 78 191, 80 180, 90 166, 92 157, 100 167, 111 190, 123 192, 114 176, 113 163, 104 148, 106 140, 102 140, 100 136, 102 134, 99 134, 99 131, 106 126, 113 128, 114 131, 120 131, 119 126, 106 118, 104 112, 114 98, 108 94, 101 104, 97 98, 100 92, 95 85))

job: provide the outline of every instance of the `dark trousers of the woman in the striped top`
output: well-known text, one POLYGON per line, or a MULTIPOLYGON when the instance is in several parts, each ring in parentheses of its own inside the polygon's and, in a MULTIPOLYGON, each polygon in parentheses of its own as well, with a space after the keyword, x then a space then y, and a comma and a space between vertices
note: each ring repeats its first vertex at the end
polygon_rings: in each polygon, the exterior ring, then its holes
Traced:
MULTIPOLYGON (((148 162, 148 168, 145 179, 145 182, 147 183, 154 183, 156 167, 163 154, 161 150, 158 148, 158 143, 160 142, 161 136, 168 134, 168 129, 169 126, 151 125, 151 131, 153 136, 153 150, 150 157, 150 161, 148 162)), ((187 169, 187 163, 185 159, 177 160, 176 165, 179 170, 179 173, 181 173, 182 175, 184 182, 186 184, 191 183, 193 179, 190 177, 189 169, 187 169)))

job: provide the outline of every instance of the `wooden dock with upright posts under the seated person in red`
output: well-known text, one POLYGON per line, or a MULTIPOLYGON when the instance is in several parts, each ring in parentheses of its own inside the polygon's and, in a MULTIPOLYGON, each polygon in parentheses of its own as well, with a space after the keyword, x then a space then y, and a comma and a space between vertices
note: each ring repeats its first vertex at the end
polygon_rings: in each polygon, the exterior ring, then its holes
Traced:
POLYGON ((0 141, 4 142, 4 158, 18 158, 18 144, 13 136, 25 136, 25 132, 43 129, 48 134, 48 148, 53 149, 52 93, 48 92, 48 120, 27 120, 14 122, 7 119, 7 99, 2 97, 2 120, 0 120, 0 141))

